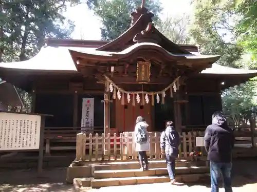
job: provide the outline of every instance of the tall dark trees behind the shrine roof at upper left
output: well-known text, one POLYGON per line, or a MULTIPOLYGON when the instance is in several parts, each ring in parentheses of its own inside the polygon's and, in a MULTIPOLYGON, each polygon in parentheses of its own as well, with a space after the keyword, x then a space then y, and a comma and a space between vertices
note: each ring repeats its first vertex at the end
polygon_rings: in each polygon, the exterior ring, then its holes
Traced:
MULTIPOLYGON (((69 38, 74 24, 62 16, 66 3, 79 0, 2 0, 0 3, 0 62, 23 61, 33 57, 46 37, 69 38)), ((25 111, 31 97, 18 89, 25 111)))

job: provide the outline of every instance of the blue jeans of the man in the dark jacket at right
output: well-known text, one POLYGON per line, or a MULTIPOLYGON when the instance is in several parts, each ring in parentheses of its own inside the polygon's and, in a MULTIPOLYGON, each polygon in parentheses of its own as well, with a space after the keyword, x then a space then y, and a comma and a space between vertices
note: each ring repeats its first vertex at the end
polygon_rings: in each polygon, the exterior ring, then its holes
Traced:
POLYGON ((231 168, 232 163, 210 162, 211 168, 211 192, 218 192, 218 180, 223 177, 223 186, 225 192, 232 192, 231 186, 231 168))

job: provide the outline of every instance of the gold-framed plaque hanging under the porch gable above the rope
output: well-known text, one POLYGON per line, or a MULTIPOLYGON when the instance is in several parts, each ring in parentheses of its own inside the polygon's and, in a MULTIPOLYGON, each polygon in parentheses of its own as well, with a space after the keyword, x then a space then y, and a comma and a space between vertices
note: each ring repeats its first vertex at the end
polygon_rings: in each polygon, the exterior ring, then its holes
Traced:
POLYGON ((137 82, 149 83, 151 75, 151 62, 150 61, 138 61, 137 62, 137 82))

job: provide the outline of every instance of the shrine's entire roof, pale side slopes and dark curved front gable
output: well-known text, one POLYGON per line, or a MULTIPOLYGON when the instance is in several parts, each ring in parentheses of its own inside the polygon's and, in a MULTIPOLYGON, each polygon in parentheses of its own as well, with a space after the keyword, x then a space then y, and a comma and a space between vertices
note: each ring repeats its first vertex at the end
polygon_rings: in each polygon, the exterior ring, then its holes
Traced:
MULTIPOLYGON (((65 77, 68 74, 102 74, 102 69, 105 73, 111 65, 115 66, 115 70, 124 70, 125 64, 136 68, 135 60, 138 58, 151 60, 154 65, 157 63, 156 68, 151 69, 160 71, 159 74, 168 68, 165 75, 170 75, 169 79, 174 78, 172 75, 181 76, 192 72, 218 78, 241 75, 243 80, 257 76, 257 71, 219 66, 214 63, 219 56, 201 55, 197 46, 174 44, 154 27, 152 17, 153 14, 146 8, 138 8, 132 13, 131 27, 113 41, 49 38, 46 46, 31 59, 0 63, 0 77, 12 82, 11 76, 17 79, 24 76, 28 81, 26 75, 29 77, 30 74, 63 74, 65 77)), ((120 70, 117 71, 119 73, 120 70)), ((33 78, 29 80, 32 82, 33 78)))

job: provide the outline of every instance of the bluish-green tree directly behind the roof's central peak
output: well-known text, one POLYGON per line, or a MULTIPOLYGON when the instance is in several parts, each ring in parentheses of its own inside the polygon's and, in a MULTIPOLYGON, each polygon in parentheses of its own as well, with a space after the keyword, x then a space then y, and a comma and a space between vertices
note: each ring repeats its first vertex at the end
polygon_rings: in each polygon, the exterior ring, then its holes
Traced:
MULTIPOLYGON (((130 28, 130 14, 140 5, 141 0, 99 0, 93 9, 102 21, 102 40, 113 40, 130 28)), ((159 24, 160 18, 158 14, 162 11, 159 1, 146 1, 146 8, 155 14, 154 23, 156 25, 159 24)))

